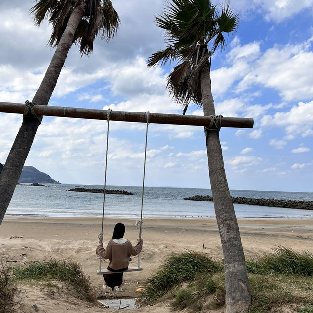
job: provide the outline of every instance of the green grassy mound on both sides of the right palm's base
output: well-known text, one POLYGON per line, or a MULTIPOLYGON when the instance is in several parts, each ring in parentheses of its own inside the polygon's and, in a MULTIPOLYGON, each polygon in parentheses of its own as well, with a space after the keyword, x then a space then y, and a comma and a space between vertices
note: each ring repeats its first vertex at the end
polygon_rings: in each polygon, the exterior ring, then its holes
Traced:
MULTIPOLYGON (((247 261, 252 304, 249 313, 272 313, 283 306, 313 313, 313 256, 278 247, 247 261)), ((143 284, 137 305, 171 300, 174 310, 209 310, 225 304, 223 261, 186 252, 170 256, 143 284), (198 292, 199 291, 199 292, 198 292)))

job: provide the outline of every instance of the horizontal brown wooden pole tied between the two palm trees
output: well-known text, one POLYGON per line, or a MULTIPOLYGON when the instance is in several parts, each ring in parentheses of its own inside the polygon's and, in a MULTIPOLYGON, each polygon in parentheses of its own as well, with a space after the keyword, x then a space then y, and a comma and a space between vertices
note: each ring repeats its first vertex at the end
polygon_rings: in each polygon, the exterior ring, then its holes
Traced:
MULTIPOLYGON (((0 102, 0 112, 23 114, 26 105, 22 103, 0 102)), ((34 111, 37 115, 60 116, 84 119, 107 119, 107 110, 85 109, 43 106, 36 104, 34 111)), ((193 125, 208 126, 211 121, 210 116, 179 115, 150 113, 149 123, 154 124, 174 124, 174 125, 193 125)), ((145 112, 111 111, 110 121, 146 123, 147 115, 145 112)), ((222 117, 222 127, 253 128, 253 118, 222 117)))

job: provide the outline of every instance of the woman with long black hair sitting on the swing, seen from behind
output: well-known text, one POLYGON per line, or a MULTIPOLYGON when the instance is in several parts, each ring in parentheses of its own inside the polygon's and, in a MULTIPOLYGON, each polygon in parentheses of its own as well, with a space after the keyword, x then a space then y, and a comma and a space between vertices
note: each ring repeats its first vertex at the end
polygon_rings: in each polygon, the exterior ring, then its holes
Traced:
MULTIPOLYGON (((123 272, 128 269, 129 258, 131 255, 137 255, 142 249, 143 239, 139 239, 136 246, 132 246, 131 242, 124 239, 125 226, 122 223, 117 223, 114 227, 112 239, 107 247, 103 248, 103 234, 99 234, 99 246, 96 253, 103 259, 109 259, 108 270, 112 272, 123 272)), ((116 291, 124 291, 122 289, 123 273, 104 274, 103 289, 109 287, 116 291)))

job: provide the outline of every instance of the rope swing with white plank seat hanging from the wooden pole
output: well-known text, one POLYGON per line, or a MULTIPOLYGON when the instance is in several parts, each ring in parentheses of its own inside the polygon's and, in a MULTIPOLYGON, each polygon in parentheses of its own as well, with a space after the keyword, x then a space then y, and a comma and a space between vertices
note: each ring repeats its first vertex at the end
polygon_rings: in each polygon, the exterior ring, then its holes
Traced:
MULTIPOLYGON (((107 163, 108 163, 108 142, 109 142, 109 122, 110 122, 110 112, 112 110, 108 109, 107 111, 107 122, 108 122, 108 128, 107 128, 107 147, 106 147, 106 165, 105 165, 105 175, 104 175, 104 189, 103 189, 103 208, 102 208, 102 227, 101 227, 101 233, 103 233, 103 224, 104 224, 104 205, 105 205, 105 195, 106 195, 106 180, 107 180, 107 163)), ((146 173, 146 157, 147 157, 147 139, 148 139, 148 125, 149 125, 149 119, 150 119, 150 112, 146 112, 147 117, 147 127, 146 127, 146 143, 145 143, 145 158, 144 158, 144 166, 143 166, 143 182, 142 182, 142 198, 141 198, 141 214, 140 214, 140 220, 137 220, 136 226, 140 224, 139 228, 139 239, 141 239, 141 232, 142 232, 142 211, 143 211, 143 195, 144 195, 144 187, 145 187, 145 173, 146 173)), ((123 273, 126 272, 136 272, 136 271, 142 271, 143 268, 140 266, 140 256, 141 252, 139 252, 138 255, 138 266, 137 267, 129 267, 127 270, 122 271, 123 273)), ((121 273, 121 272, 112 272, 108 269, 101 269, 101 257, 99 257, 99 269, 97 269, 98 275, 103 274, 114 274, 114 273, 121 273)))

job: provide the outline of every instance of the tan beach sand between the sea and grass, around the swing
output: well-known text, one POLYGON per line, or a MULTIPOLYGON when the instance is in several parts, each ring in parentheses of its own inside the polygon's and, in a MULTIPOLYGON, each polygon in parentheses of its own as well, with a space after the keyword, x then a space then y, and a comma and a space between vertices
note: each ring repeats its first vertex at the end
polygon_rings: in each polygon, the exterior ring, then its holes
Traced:
MULTIPOLYGON (((112 236, 117 222, 126 226, 125 238, 134 245, 138 237, 134 220, 105 219, 104 242, 112 236)), ((270 252, 276 246, 291 247, 296 251, 307 250, 313 253, 312 220, 299 219, 254 219, 238 220, 246 258, 256 254, 270 252)), ((101 286, 103 278, 96 274, 99 259, 95 254, 98 245, 97 235, 101 231, 99 218, 38 218, 7 216, 0 226, 0 255, 2 259, 17 261, 13 264, 26 264, 34 260, 72 259, 81 264, 98 295, 119 297, 120 293, 104 293, 101 286)), ((125 292, 123 297, 135 297, 135 291, 142 281, 155 271, 162 261, 171 253, 185 249, 203 252, 219 259, 222 258, 220 237, 215 219, 145 219, 142 237, 141 272, 124 274, 125 292)), ((137 257, 132 257, 130 266, 136 266, 137 257)), ((107 262, 102 262, 102 268, 107 262)), ((47 291, 41 284, 19 285, 20 312, 114 312, 113 309, 90 308, 83 301, 76 300, 67 292, 47 291), (52 294, 51 294, 52 293, 52 294)), ((123 302, 122 302, 123 306, 123 302)), ((167 305, 158 305, 127 312, 170 312, 167 305)), ((212 311, 217 312, 217 311, 212 311)), ((223 312, 219 311, 219 312, 223 312)))

